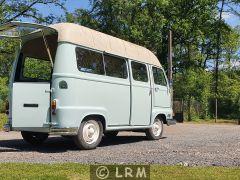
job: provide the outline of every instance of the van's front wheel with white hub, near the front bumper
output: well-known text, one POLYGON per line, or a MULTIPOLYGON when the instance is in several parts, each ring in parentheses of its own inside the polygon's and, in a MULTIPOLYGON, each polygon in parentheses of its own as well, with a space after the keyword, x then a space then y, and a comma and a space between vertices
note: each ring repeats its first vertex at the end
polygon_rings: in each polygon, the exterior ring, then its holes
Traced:
POLYGON ((146 130, 146 136, 149 140, 158 140, 163 134, 163 120, 156 118, 151 128, 146 130))

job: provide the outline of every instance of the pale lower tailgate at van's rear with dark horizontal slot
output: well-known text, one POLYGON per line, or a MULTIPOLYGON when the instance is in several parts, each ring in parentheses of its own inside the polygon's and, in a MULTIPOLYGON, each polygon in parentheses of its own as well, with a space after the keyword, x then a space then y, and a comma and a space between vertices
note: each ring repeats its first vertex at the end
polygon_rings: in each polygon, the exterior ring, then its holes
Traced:
POLYGON ((50 83, 15 82, 12 90, 12 126, 43 127, 49 122, 50 83))

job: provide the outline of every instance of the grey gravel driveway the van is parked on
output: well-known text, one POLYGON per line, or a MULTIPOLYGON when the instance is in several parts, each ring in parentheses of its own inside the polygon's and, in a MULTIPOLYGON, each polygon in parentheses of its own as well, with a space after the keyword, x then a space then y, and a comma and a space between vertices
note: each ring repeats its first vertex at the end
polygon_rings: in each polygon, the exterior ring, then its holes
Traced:
POLYGON ((143 133, 104 138, 95 150, 78 150, 71 140, 50 137, 41 147, 26 144, 18 132, 0 132, 0 162, 151 163, 240 166, 240 126, 177 124, 159 141, 143 133))

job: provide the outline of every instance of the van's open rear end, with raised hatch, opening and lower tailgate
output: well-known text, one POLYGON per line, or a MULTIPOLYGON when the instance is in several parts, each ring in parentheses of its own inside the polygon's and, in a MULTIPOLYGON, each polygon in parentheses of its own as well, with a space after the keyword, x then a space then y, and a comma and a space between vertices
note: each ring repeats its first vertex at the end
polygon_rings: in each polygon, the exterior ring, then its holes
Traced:
POLYGON ((23 42, 10 86, 10 119, 14 130, 41 132, 50 122, 52 59, 56 49, 52 44, 47 48, 46 41, 57 41, 57 35, 51 34, 57 33, 33 23, 10 22, 0 26, 1 38, 19 38, 23 42), (49 54, 47 49, 54 50, 49 54))

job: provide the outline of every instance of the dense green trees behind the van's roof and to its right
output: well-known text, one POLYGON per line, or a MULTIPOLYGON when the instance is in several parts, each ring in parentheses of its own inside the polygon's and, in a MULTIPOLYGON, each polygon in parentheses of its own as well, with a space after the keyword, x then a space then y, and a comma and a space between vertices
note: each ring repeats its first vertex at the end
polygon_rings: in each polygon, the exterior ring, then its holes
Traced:
POLYGON ((187 102, 188 120, 214 116, 214 66, 219 69, 220 117, 239 117, 239 28, 219 13, 236 13, 239 0, 91 0, 89 10, 77 9, 66 21, 102 31, 149 48, 167 67, 167 34, 173 32, 174 98, 187 102), (220 5, 223 5, 221 9, 220 5), (219 35, 221 41, 219 41, 219 35), (220 42, 220 44, 219 44, 220 42), (220 54, 221 52, 221 54, 220 54), (234 66, 235 70, 238 68, 234 66), (234 74, 234 75, 233 75, 234 74), (229 92, 231 91, 231 92, 229 92), (194 102, 202 111, 195 112, 194 102), (234 107, 230 109, 229 107, 234 107), (224 112, 224 113, 222 113, 224 112))

